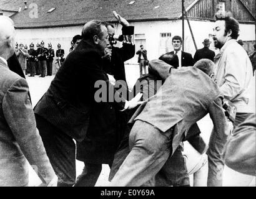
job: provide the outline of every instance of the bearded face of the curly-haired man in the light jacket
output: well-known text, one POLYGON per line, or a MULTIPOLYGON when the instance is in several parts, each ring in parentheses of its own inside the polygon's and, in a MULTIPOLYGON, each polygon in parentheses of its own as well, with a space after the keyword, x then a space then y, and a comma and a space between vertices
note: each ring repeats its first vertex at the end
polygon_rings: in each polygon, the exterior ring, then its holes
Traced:
POLYGON ((214 46, 218 49, 221 49, 228 38, 228 36, 225 35, 224 20, 218 20, 214 23, 214 32, 212 35, 213 35, 212 39, 214 40, 214 46))

